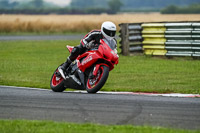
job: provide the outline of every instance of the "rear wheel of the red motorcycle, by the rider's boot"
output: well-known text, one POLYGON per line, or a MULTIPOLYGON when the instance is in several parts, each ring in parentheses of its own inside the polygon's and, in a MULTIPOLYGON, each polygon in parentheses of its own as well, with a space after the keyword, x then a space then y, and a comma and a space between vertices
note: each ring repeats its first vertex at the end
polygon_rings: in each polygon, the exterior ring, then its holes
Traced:
POLYGON ((63 92, 65 90, 64 87, 64 79, 61 76, 56 76, 56 73, 58 73, 58 69, 53 73, 50 81, 51 89, 54 92, 63 92))

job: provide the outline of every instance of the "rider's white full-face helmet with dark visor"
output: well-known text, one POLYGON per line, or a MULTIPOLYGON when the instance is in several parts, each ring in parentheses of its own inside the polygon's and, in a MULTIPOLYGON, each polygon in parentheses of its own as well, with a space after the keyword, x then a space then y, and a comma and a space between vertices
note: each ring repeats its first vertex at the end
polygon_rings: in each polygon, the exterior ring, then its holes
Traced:
POLYGON ((113 22, 106 21, 101 25, 101 32, 108 40, 111 40, 115 37, 116 30, 116 25, 113 22))

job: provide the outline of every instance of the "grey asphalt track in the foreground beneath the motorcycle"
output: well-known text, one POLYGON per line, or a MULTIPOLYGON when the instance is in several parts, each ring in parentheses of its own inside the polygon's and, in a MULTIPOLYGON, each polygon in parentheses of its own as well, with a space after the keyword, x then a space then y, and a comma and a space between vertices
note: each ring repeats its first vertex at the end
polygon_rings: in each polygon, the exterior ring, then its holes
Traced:
POLYGON ((200 129, 200 99, 55 93, 0 86, 0 119, 200 129))

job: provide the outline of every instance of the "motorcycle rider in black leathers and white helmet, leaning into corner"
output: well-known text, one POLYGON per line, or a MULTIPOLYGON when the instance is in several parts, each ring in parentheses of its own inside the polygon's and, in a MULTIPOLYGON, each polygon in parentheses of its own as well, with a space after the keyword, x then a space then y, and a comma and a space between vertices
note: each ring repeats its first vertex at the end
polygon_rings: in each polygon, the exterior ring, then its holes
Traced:
POLYGON ((98 47, 100 44, 100 39, 112 40, 114 39, 117 46, 117 40, 115 39, 116 34, 116 25, 113 22, 106 21, 101 25, 100 30, 90 31, 83 39, 80 41, 80 45, 73 48, 71 54, 67 58, 66 62, 63 63, 58 68, 61 76, 65 79, 65 71, 69 65, 81 54, 85 53, 87 50, 90 50, 94 47, 98 47))

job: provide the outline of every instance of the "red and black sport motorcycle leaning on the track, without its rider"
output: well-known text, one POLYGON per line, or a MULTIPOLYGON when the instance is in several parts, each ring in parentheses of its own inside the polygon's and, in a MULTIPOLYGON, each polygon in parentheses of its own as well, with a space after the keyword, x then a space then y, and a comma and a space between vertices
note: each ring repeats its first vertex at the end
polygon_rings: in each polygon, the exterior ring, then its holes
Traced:
MULTIPOLYGON (((67 46, 69 52, 72 46, 67 46)), ((79 55, 67 68, 67 76, 62 77, 58 68, 51 77, 50 86, 54 92, 62 92, 66 88, 87 90, 96 93, 105 84, 109 71, 118 64, 119 56, 114 40, 101 39, 98 48, 79 55)))

